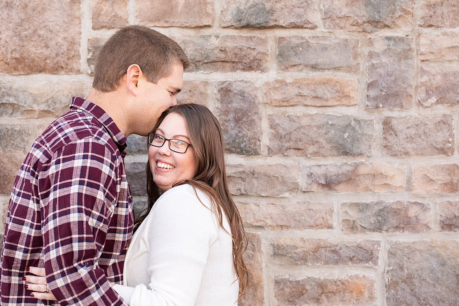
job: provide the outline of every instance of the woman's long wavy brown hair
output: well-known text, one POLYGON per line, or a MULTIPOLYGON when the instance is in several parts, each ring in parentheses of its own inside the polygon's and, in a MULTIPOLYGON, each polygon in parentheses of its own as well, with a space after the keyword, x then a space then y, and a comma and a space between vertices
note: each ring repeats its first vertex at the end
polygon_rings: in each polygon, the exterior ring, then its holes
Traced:
MULTIPOLYGON (((173 187, 190 184, 195 189, 196 195, 196 189, 199 189, 209 199, 214 199, 211 201, 213 203, 213 211, 217 216, 220 227, 227 232, 223 227, 222 210, 224 211, 233 240, 233 265, 239 281, 239 300, 248 285, 248 271, 242 258, 247 247, 247 235, 244 231, 239 211, 229 192, 220 123, 207 107, 199 104, 182 104, 172 106, 164 111, 153 131, 156 131, 162 120, 170 113, 177 113, 185 118, 188 136, 193 144, 197 164, 194 178, 175 182, 173 187)), ((146 175, 148 205, 140 212, 139 217, 135 219, 134 231, 139 228, 140 223, 145 220, 161 195, 161 190, 153 181, 149 162, 146 164, 146 175)))

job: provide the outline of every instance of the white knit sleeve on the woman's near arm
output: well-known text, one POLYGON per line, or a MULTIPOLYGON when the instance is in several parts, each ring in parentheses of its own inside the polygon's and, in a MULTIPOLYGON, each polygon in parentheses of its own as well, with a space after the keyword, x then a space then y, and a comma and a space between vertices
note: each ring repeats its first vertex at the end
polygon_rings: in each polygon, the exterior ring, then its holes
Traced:
MULTIPOLYGON (((210 207, 207 197, 202 195, 200 199, 210 207)), ((209 247, 218 239, 213 212, 202 205, 194 192, 179 190, 164 195, 150 213, 149 226, 145 228, 149 229, 150 284, 134 288, 116 285, 113 289, 130 306, 192 306, 209 247)))

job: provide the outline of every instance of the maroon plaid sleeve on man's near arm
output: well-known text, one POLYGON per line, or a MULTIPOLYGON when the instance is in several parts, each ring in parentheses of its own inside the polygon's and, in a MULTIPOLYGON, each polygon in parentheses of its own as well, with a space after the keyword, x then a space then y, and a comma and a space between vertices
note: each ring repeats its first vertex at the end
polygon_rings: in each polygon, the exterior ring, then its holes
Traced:
POLYGON ((110 150, 92 138, 73 141, 41 172, 46 280, 60 305, 125 305, 98 265, 116 205, 110 150))

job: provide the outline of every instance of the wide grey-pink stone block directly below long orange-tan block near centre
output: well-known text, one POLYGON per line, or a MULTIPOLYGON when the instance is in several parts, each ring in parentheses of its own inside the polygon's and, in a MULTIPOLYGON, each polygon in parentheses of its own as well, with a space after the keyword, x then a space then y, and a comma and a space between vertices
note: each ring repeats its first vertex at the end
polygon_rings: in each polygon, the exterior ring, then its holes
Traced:
POLYGON ((352 116, 271 114, 268 155, 370 156, 375 121, 352 116))

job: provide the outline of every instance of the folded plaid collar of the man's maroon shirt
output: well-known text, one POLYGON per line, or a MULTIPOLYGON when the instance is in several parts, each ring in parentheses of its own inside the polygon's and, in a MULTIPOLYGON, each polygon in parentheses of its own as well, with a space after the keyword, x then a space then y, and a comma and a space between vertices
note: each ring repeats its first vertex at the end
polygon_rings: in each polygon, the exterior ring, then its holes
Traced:
POLYGON ((121 154, 123 156, 126 155, 126 152, 124 152, 127 146, 126 136, 124 136, 124 134, 119 130, 116 123, 112 120, 112 117, 108 116, 108 114, 100 106, 80 97, 72 97, 70 109, 72 109, 72 107, 76 107, 91 114, 95 119, 97 119, 97 121, 101 122, 103 127, 112 137, 113 141, 117 144, 121 154))

